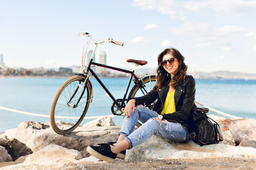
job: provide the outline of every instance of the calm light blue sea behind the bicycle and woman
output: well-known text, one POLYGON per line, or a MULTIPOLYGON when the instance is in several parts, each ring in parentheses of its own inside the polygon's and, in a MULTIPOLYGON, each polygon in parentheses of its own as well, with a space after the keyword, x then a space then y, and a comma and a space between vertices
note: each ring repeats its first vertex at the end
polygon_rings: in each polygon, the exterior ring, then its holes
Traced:
MULTIPOLYGON (((18 111, 50 114, 50 106, 61 84, 67 78, 0 78, 0 106, 18 111)), ((95 79, 93 101, 86 116, 112 115, 112 99, 107 96, 95 79)), ((128 79, 102 79, 115 98, 122 98, 128 79)), ((196 80, 196 101, 218 111, 241 118, 256 119, 256 80, 196 80)), ((219 115, 210 111, 209 114, 219 115)), ((223 116, 223 115, 220 115, 223 116)), ((225 116, 223 116, 225 117, 225 116)), ((0 109, 0 132, 17 128, 26 121, 50 122, 49 118, 23 115, 0 109)), ((122 124, 122 116, 114 117, 116 125, 122 124)), ((90 120, 84 120, 86 123, 90 120)))

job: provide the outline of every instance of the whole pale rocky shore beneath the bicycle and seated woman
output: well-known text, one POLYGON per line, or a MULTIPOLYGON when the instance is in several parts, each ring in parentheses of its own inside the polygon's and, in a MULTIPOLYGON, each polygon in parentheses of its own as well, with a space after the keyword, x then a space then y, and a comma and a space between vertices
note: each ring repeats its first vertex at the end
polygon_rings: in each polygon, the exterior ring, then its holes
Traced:
POLYGON ((153 136, 127 150, 126 159, 101 162, 88 145, 117 140, 110 118, 57 135, 48 123, 26 121, 0 134, 0 169, 256 169, 256 120, 218 120, 224 141, 200 147, 153 136), (99 127, 100 125, 100 127, 99 127))

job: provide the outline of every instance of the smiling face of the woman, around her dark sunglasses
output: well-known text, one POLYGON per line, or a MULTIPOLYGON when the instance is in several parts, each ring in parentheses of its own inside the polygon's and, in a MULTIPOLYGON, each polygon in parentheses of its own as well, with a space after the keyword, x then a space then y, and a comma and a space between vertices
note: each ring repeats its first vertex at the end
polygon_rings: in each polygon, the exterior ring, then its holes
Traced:
MULTIPOLYGON (((169 61, 170 58, 174 58, 174 56, 170 55, 170 54, 166 54, 166 55, 164 55, 162 61, 169 61)), ((173 62, 171 62, 171 63, 167 62, 166 64, 163 65, 163 67, 166 70, 166 72, 171 74, 171 77, 174 77, 176 72, 178 72, 178 60, 176 60, 176 58, 174 58, 173 62)))

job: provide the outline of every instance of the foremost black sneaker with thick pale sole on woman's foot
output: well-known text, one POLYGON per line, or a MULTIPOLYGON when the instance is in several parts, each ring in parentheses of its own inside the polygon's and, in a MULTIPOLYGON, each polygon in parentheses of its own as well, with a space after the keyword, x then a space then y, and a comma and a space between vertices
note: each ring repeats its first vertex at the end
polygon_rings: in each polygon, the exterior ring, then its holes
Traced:
POLYGON ((92 154, 92 156, 97 157, 97 159, 105 162, 113 162, 117 157, 117 154, 111 151, 109 144, 90 145, 87 147, 86 151, 92 154))

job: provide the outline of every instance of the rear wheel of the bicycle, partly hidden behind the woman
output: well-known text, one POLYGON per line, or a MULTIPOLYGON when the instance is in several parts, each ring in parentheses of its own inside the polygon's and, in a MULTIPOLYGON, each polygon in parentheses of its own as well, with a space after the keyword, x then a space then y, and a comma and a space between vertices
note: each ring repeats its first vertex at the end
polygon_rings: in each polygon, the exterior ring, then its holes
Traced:
MULTIPOLYGON (((150 75, 150 76, 144 77, 144 79, 142 79, 142 84, 144 84, 144 88, 146 89, 146 91, 144 91, 142 93, 142 91, 143 91, 142 88, 140 86, 134 85, 129 94, 129 98, 144 96, 149 91, 151 91, 153 89, 154 85, 156 84, 156 76, 150 75)), ((154 105, 155 105, 155 103, 153 102, 146 107, 151 109, 154 107, 154 105)), ((142 123, 138 120, 136 126, 139 127, 141 125, 142 125, 142 123)))

